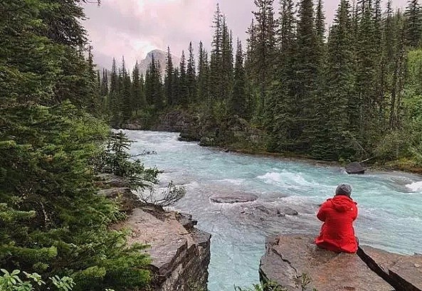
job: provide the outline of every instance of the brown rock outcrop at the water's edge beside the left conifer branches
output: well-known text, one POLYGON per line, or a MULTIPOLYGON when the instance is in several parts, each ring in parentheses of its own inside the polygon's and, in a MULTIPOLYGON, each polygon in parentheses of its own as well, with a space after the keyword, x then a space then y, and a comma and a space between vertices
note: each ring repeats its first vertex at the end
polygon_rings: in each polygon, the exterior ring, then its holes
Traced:
POLYGON ((115 228, 131 230, 129 244, 149 245, 153 290, 207 290, 211 235, 196 228, 189 214, 139 203, 124 179, 110 174, 99 178, 103 189, 98 194, 119 199, 128 213, 127 221, 115 228))

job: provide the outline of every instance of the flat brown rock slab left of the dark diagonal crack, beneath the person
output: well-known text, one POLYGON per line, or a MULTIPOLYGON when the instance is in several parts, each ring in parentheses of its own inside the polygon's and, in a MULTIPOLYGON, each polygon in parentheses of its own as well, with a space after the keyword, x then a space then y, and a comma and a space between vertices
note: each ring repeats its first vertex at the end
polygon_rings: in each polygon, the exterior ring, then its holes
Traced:
POLYGON ((260 261, 261 279, 274 280, 288 291, 393 290, 357 255, 323 250, 313 240, 313 236, 303 235, 268 239, 260 261), (311 280, 304 289, 300 285, 302 274, 311 280))

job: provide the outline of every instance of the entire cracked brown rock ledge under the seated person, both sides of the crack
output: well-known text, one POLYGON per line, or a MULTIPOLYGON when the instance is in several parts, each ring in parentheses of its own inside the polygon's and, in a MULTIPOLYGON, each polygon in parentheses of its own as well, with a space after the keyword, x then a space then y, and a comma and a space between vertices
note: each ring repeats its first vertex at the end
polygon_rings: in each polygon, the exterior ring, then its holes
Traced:
POLYGON ((313 236, 302 235, 268 238, 265 255, 260 261, 260 278, 274 280, 289 291, 313 288, 318 291, 421 290, 421 255, 397 255, 370 247, 362 247, 362 250, 374 258, 376 264, 383 266, 384 270, 394 270, 410 285, 391 286, 372 272, 367 262, 357 254, 322 250, 313 243, 313 236), (307 277, 310 282, 306 282, 307 277), (408 286, 414 289, 408 289, 408 286))

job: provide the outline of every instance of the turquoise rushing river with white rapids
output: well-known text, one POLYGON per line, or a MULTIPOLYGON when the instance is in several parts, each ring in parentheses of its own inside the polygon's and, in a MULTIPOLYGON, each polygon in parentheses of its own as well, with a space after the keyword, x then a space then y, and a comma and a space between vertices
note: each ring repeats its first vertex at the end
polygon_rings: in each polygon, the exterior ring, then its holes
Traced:
POLYGON ((315 166, 273 157, 253 157, 178 142, 179 134, 127 131, 132 154, 157 166, 159 186, 184 186, 186 196, 173 208, 191 213, 198 227, 211 233, 209 290, 233 290, 233 285, 258 282, 265 236, 312 233, 320 228, 318 205, 332 196, 337 184, 352 184, 358 202, 355 231, 362 244, 396 253, 422 253, 422 177, 402 172, 349 176, 343 169, 315 166), (210 197, 236 192, 255 194, 247 203, 214 203, 210 197), (290 207, 297 216, 280 216, 290 207))

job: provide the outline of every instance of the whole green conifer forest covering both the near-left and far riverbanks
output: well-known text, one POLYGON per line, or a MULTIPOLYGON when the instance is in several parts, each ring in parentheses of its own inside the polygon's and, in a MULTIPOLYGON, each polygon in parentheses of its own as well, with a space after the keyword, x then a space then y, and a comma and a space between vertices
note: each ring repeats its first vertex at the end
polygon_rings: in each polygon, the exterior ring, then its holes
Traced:
MULTIPOLYGON (((233 122, 258 132, 258 152, 422 167, 417 0, 402 9, 339 0, 329 26, 322 0, 255 0, 246 41, 217 5, 210 51, 167 48, 144 74, 120 57, 97 70, 85 2, 0 0, 1 269, 58 275, 74 291, 146 290, 146 246, 127 247, 127 233, 111 227, 126 213, 96 194, 96 176, 137 176, 142 188, 159 170, 127 162, 127 140, 110 127, 150 129, 183 112, 206 124, 204 136, 217 132, 220 147, 233 145, 224 139, 233 122)), ((40 285, 7 290, 58 283, 40 285)))

